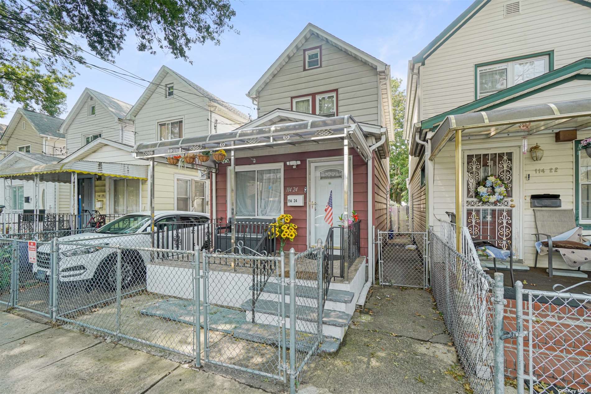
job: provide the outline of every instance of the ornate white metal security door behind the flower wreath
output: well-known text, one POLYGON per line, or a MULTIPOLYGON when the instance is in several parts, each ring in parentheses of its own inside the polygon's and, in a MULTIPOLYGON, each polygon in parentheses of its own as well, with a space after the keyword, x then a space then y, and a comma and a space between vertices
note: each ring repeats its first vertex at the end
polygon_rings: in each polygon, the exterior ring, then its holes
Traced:
POLYGON ((465 156, 466 199, 464 204, 466 227, 475 239, 504 240, 504 249, 511 246, 515 253, 515 151, 468 153, 465 156), (500 202, 483 202, 478 196, 478 186, 489 176, 496 176, 506 183, 506 197, 500 202))

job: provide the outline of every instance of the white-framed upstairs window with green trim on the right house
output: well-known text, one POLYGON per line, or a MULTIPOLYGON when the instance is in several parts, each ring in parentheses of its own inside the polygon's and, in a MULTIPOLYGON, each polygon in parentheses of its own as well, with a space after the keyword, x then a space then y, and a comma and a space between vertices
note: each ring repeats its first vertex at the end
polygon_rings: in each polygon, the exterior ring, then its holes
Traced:
POLYGON ((548 72, 549 63, 548 56, 539 56, 480 66, 476 84, 478 98, 543 75, 548 72))

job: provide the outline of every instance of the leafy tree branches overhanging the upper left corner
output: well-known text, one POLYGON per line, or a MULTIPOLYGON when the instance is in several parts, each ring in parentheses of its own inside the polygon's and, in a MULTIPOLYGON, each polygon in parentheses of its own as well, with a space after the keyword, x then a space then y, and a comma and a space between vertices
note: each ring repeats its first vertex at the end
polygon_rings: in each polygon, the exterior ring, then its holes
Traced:
POLYGON ((115 63, 128 32, 138 51, 160 48, 191 62, 193 44, 217 45, 226 29, 238 33, 229 24, 235 15, 229 0, 0 0, 0 117, 7 102, 61 114, 61 89, 72 86, 76 66, 99 67, 84 55, 115 63))

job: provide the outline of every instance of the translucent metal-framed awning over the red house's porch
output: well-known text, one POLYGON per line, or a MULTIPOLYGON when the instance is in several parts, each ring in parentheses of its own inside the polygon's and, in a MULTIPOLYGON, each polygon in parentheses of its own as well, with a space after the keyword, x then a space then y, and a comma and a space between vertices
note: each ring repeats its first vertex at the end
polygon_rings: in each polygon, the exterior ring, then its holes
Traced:
MULTIPOLYGON (((275 124, 264 127, 245 128, 200 135, 198 137, 177 138, 176 140, 140 143, 135 146, 138 159, 152 157, 164 160, 164 157, 175 153, 199 153, 206 150, 250 150, 265 149, 279 144, 295 146, 298 144, 314 144, 322 140, 343 140, 348 137, 353 147, 363 159, 369 158, 369 146, 362 128, 350 115, 315 119, 303 122, 275 124)), ((204 166, 215 166, 211 162, 204 166)))

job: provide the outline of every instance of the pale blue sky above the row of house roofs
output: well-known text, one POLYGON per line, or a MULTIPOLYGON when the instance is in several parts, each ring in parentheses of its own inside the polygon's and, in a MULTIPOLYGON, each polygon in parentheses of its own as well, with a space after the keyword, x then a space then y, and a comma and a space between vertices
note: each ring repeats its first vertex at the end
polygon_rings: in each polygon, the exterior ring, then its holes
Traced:
MULTIPOLYGON (((129 37, 116 65, 151 80, 165 64, 238 109, 256 115, 245 93, 308 22, 391 65, 392 77, 407 76, 408 60, 454 20, 472 0, 434 1, 233 1, 232 20, 240 34, 227 31, 219 46, 205 44, 190 51, 193 65, 158 50, 138 53, 129 37)), ((90 63, 114 69, 96 58, 90 63)), ((85 87, 134 104, 143 88, 80 66, 67 91, 67 111, 85 87)), ((141 82, 147 85, 146 82, 141 82)), ((404 85, 403 85, 404 86, 404 85)), ((8 123, 15 105, 9 104, 8 123)), ((65 117, 67 111, 61 115, 65 117)))

